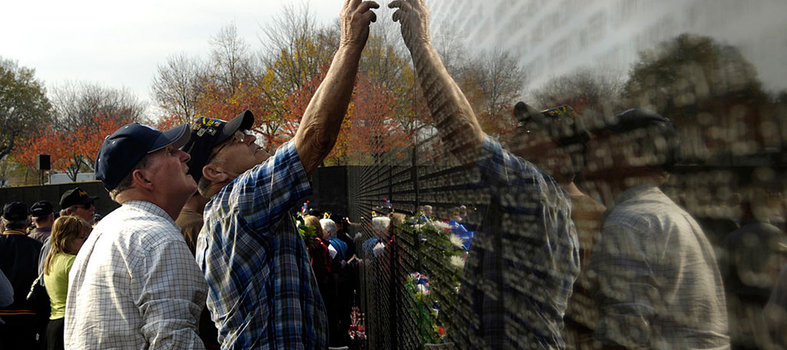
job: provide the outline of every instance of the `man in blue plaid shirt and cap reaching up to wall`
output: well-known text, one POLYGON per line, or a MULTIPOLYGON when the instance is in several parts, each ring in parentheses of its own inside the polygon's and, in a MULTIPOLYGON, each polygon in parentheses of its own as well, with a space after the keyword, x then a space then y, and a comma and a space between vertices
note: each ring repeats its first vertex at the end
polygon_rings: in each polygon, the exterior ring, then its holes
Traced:
POLYGON ((346 0, 341 44, 291 142, 269 155, 246 131, 251 112, 229 122, 201 118, 184 150, 209 197, 197 239, 208 309, 222 348, 325 349, 328 323, 309 256, 288 211, 311 192, 307 174, 330 153, 374 21, 373 1, 346 0))

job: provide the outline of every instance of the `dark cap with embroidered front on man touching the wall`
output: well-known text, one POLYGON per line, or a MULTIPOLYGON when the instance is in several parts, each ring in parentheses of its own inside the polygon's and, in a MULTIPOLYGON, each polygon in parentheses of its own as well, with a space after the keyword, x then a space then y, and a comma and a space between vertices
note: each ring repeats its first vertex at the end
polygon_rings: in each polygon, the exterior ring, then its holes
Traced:
POLYGON ((254 115, 244 111, 230 121, 200 117, 191 126, 191 139, 183 151, 191 156, 187 165, 194 181, 202 178, 202 168, 208 163, 213 148, 232 137, 236 131, 249 130, 254 125, 254 115))

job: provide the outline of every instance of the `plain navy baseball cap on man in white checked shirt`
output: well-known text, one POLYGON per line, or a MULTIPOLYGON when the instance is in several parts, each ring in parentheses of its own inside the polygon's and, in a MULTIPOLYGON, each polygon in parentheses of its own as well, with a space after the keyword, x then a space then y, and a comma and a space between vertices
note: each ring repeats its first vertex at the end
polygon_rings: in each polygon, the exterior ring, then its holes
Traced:
POLYGON ((188 124, 164 132, 139 123, 121 127, 98 150, 96 179, 104 183, 107 191, 112 191, 146 155, 169 145, 183 147, 191 136, 188 129, 188 124))

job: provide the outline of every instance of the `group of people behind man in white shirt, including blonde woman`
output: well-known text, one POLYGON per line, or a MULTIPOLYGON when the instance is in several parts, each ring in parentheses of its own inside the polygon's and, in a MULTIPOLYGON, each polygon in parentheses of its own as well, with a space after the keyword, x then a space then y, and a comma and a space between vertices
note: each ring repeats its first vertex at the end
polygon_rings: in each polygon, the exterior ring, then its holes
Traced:
POLYGON ((92 231, 96 199, 74 187, 59 212, 46 200, 3 206, 0 267, 11 287, 0 309, 3 349, 63 348, 68 274, 92 231))

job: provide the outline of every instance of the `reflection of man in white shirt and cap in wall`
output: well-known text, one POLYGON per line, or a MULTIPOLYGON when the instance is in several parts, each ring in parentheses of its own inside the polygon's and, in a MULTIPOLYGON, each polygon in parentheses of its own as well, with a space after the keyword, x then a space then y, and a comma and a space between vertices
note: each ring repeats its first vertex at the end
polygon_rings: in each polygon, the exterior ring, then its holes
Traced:
POLYGON ((713 247, 659 186, 678 154, 672 122, 631 109, 588 143, 585 179, 608 206, 588 273, 605 346, 729 348, 727 309, 713 247))

